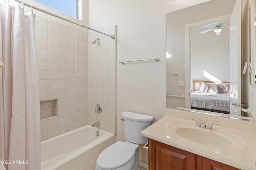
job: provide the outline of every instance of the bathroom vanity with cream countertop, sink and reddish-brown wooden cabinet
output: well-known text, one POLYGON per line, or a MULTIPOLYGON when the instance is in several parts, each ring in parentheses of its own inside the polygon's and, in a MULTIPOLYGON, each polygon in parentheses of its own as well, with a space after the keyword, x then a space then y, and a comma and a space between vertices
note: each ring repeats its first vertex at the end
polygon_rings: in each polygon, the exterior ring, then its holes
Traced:
POLYGON ((141 134, 149 138, 150 170, 256 169, 253 121, 164 109, 164 117, 141 134), (209 130, 210 122, 218 125, 209 130), (206 128, 200 127, 202 123, 206 128))

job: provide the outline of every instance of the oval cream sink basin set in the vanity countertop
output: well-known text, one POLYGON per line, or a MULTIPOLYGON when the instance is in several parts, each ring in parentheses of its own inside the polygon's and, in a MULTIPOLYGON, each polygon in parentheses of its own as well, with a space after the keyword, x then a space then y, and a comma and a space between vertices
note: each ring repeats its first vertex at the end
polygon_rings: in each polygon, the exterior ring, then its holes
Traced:
POLYGON ((239 136, 228 132, 227 130, 217 128, 213 130, 196 127, 192 124, 175 123, 169 126, 169 129, 176 137, 182 137, 192 142, 203 145, 215 146, 220 148, 243 148, 246 144, 239 136))

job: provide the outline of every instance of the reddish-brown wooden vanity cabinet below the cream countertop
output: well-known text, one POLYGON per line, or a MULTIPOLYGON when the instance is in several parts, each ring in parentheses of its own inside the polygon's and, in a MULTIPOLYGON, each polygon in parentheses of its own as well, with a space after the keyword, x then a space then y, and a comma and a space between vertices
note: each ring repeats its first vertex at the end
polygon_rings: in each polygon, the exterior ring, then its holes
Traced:
POLYGON ((239 170, 149 139, 149 170, 239 170))

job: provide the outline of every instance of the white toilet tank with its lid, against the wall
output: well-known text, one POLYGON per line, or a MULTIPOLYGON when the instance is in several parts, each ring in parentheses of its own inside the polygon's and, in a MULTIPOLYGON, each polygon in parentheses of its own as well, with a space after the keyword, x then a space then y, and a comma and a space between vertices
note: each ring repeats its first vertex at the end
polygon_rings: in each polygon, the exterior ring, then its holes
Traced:
POLYGON ((148 142, 148 138, 142 136, 140 132, 150 126, 153 117, 128 111, 122 112, 121 115, 124 119, 124 134, 126 140, 136 144, 148 142))

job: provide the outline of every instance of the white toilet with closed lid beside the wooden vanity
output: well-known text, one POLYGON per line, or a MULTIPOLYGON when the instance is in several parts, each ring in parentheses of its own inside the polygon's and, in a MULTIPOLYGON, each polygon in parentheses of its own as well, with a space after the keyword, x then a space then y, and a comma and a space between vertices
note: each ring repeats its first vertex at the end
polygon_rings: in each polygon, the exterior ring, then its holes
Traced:
POLYGON ((103 150, 95 170, 140 170, 139 144, 148 142, 140 132, 150 126, 152 116, 122 112, 126 141, 118 141, 103 150))

